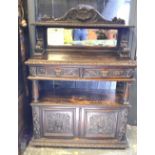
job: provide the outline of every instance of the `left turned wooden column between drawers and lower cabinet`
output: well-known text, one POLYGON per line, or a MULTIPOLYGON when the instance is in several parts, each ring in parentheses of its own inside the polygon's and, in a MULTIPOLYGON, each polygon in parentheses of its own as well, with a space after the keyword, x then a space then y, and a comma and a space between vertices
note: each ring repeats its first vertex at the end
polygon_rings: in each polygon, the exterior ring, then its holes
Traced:
POLYGON ((34 102, 38 102, 38 99, 39 99, 39 82, 38 82, 38 80, 32 81, 32 91, 33 91, 34 102))

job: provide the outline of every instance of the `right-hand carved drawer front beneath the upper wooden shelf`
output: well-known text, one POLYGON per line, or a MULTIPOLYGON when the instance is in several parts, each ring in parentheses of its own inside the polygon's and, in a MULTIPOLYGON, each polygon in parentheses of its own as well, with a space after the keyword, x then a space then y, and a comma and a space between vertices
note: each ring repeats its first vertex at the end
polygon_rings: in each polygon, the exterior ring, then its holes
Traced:
POLYGON ((84 69, 84 78, 131 78, 134 75, 132 69, 84 69))

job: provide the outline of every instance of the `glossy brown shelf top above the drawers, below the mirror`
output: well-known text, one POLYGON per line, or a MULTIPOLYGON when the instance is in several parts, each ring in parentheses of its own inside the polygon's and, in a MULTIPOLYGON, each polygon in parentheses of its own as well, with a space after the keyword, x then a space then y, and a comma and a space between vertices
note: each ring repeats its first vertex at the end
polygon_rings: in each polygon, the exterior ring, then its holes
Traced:
POLYGON ((32 56, 25 62, 27 65, 76 65, 135 68, 136 61, 121 59, 117 53, 101 52, 45 52, 43 56, 32 56))

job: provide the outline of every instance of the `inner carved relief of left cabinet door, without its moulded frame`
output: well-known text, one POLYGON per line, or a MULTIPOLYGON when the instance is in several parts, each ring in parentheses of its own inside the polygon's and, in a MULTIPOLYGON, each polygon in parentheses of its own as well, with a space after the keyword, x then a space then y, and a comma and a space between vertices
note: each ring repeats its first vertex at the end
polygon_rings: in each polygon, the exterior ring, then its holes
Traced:
POLYGON ((47 132, 49 133, 70 133, 71 118, 67 113, 51 112, 46 114, 47 132))

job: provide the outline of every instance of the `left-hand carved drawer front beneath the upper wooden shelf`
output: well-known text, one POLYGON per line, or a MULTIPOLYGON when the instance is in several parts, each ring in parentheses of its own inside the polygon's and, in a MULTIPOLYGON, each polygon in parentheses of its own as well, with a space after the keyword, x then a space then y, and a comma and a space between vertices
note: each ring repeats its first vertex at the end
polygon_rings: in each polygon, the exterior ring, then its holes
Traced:
POLYGON ((31 76, 78 78, 79 68, 31 66, 31 76))

